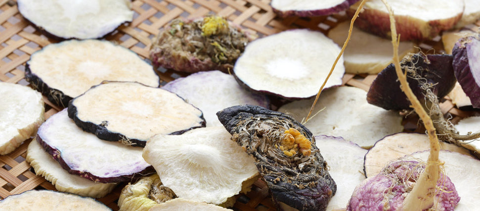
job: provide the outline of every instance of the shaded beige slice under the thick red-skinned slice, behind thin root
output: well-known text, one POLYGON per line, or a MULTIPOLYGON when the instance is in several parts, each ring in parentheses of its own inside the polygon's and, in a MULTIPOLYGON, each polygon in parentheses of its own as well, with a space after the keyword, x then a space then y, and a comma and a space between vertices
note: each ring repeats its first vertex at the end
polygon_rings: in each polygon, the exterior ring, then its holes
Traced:
MULTIPOLYGON (((349 34, 350 22, 344 21, 328 32, 333 42, 343 45, 349 34)), ((413 42, 400 42, 398 45, 400 58, 407 53, 413 53, 413 42)), ((351 74, 377 74, 392 61, 392 40, 381 38, 358 28, 353 28, 349 45, 344 52, 345 72, 351 74), (375 46, 375 47, 372 47, 375 46)))

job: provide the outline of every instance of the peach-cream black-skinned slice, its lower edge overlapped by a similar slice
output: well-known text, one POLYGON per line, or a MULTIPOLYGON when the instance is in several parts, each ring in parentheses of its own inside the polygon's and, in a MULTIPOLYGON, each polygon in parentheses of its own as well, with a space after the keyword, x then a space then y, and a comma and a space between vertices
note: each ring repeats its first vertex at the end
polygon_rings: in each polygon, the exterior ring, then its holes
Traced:
POLYGON ((67 107, 68 102, 102 81, 134 81, 158 87, 152 66, 128 48, 108 41, 64 41, 32 54, 25 78, 48 97, 67 107))

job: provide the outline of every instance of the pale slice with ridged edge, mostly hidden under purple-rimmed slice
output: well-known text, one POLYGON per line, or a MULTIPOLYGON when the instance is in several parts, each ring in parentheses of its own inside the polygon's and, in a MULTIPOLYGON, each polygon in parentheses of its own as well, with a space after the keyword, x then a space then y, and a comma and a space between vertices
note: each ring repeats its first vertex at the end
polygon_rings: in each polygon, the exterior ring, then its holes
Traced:
POLYGON ((100 198, 110 193, 117 186, 114 183, 98 183, 68 173, 68 171, 62 169, 58 162, 53 160, 52 156, 45 152, 44 148, 35 139, 28 145, 26 160, 35 169, 37 175, 45 177, 61 192, 100 198))

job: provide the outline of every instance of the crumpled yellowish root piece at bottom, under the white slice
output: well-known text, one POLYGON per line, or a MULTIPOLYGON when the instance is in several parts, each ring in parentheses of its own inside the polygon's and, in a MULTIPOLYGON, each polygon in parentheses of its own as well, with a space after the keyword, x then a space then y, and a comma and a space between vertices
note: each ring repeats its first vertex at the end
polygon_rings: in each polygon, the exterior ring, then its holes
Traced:
POLYGON ((163 185, 158 174, 153 174, 125 186, 118 199, 118 206, 120 211, 149 211, 153 206, 175 198, 172 189, 163 185))

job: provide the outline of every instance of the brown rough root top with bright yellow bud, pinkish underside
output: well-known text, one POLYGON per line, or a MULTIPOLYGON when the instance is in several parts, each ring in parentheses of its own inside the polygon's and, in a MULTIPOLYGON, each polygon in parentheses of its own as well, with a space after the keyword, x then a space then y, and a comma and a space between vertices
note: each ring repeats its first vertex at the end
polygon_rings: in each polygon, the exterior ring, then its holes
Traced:
POLYGON ((233 68, 248 42, 255 39, 219 16, 194 20, 175 19, 157 36, 150 48, 155 68, 181 72, 233 68))

